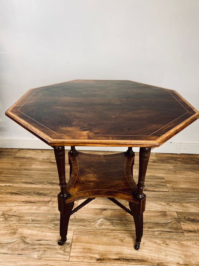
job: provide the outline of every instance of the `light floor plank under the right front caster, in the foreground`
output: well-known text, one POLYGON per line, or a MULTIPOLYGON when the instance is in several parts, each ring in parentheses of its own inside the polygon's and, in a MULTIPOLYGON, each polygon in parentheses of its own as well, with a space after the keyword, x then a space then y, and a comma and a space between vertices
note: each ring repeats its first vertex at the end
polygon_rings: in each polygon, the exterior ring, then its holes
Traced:
POLYGON ((197 237, 145 234, 137 252, 131 233, 74 231, 69 261, 140 265, 199 265, 197 237), (191 251, 191 252, 190 252, 191 251))

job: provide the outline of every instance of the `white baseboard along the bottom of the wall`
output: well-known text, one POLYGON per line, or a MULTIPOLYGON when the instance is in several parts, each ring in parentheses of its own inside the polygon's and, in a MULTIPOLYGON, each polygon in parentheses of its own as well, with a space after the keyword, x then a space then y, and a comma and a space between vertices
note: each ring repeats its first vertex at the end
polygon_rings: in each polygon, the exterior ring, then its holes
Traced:
MULTIPOLYGON (((0 138, 1 148, 18 148, 18 149, 52 149, 39 139, 27 138, 0 138)), ((70 149, 70 147, 65 147, 70 149)), ((78 150, 106 150, 106 151, 126 151, 126 147, 86 147, 79 146, 78 150)), ((139 151, 139 148, 133 149, 135 152, 139 151)), ((199 154, 199 143, 174 143, 166 142, 158 148, 154 148, 152 152, 155 153, 189 153, 199 154)))

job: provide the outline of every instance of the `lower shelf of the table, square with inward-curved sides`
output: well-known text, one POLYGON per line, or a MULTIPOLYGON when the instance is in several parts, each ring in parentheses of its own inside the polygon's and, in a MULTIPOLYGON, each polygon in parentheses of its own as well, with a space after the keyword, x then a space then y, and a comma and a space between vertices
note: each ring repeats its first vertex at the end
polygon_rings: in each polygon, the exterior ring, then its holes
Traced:
POLYGON ((68 155, 72 168, 65 202, 93 197, 114 197, 139 204, 133 179, 134 155, 117 153, 68 155))

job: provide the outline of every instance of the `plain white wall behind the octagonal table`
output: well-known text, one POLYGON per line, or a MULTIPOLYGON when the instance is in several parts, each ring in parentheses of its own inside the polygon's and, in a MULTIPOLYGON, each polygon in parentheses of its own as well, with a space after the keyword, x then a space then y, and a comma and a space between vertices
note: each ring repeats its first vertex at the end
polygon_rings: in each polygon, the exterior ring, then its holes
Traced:
MULTIPOLYGON (((172 88, 199 108, 198 0, 0 3, 1 147, 48 147, 4 112, 29 88, 67 80, 127 79, 172 88)), ((198 125, 156 152, 199 153, 198 125)))

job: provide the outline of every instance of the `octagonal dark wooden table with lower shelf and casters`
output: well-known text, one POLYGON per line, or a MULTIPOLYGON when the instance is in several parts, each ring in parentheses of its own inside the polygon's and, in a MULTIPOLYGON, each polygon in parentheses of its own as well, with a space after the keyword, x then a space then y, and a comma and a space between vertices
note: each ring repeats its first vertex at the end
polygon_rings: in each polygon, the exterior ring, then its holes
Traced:
MULTIPOLYGON (((199 112, 175 90, 129 80, 72 80, 29 90, 6 116, 54 148, 60 193, 60 236, 70 215, 95 197, 107 197, 134 218, 135 249, 143 233, 144 180, 151 148, 159 147, 198 119, 199 112), (65 179, 65 147, 70 179, 65 179), (124 146, 124 153, 93 155, 75 146, 124 146), (138 183, 133 179, 139 150, 138 183), (117 199, 127 200, 127 209, 117 199), (74 201, 87 199, 73 209, 74 201)), ((155 184, 154 184, 155 185, 155 184)))

